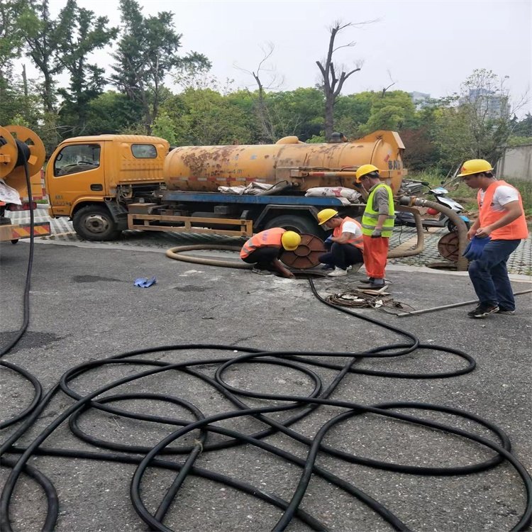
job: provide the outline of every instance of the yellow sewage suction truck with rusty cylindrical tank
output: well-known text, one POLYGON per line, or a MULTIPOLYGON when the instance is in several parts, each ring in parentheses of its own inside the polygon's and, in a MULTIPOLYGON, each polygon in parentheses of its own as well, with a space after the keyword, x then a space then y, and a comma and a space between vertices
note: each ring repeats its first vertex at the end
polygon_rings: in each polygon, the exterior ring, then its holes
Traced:
POLYGON ((162 138, 97 135, 70 138, 46 170, 52 217, 72 218, 86 240, 113 240, 125 229, 250 236, 270 227, 323 235, 321 209, 360 216, 365 205, 342 196, 306 196, 315 187, 355 189, 355 170, 371 163, 397 192, 406 174, 404 145, 393 131, 358 140, 272 145, 183 146, 162 138), (251 183, 258 194, 222 193, 251 183))

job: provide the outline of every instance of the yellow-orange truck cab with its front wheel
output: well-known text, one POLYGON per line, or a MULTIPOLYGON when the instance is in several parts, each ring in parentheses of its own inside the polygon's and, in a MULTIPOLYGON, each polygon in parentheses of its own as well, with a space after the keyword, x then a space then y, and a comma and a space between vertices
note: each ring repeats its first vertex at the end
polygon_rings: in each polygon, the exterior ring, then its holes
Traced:
POLYGON ((170 144, 148 135, 95 135, 63 141, 45 174, 50 216, 72 218, 87 240, 113 240, 127 227, 128 203, 162 187, 170 144))

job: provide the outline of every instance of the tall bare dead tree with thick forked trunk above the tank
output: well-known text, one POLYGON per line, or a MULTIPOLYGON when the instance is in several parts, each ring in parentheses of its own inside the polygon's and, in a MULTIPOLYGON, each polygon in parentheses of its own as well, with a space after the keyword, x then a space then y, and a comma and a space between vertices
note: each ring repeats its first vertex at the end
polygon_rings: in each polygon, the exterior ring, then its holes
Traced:
POLYGON ((335 67, 335 64, 333 62, 333 55, 334 52, 337 50, 340 50, 340 48, 353 48, 353 46, 356 45, 354 41, 351 41, 350 43, 347 43, 345 45, 336 46, 335 48, 335 40, 336 36, 340 31, 345 30, 345 28, 350 27, 360 27, 364 24, 372 23, 375 21, 367 21, 367 22, 361 22, 361 23, 342 23, 341 21, 336 21, 333 23, 333 26, 329 28, 329 32, 331 33, 331 37, 329 38, 329 46, 327 51, 327 57, 326 59, 321 61, 316 61, 316 65, 318 65, 318 68, 321 72, 321 77, 323 78, 323 94, 325 94, 325 137, 331 138, 331 133, 333 133, 333 125, 334 125, 334 118, 333 118, 333 112, 334 112, 334 104, 336 102, 336 98, 338 97, 338 94, 340 94, 343 84, 345 83, 345 80, 350 77, 351 74, 354 74, 355 72, 358 72, 362 68, 362 62, 357 61, 355 62, 355 68, 353 70, 350 70, 346 72, 347 69, 343 65, 339 65, 338 67, 335 67), (340 77, 336 77, 336 72, 340 70, 340 77))

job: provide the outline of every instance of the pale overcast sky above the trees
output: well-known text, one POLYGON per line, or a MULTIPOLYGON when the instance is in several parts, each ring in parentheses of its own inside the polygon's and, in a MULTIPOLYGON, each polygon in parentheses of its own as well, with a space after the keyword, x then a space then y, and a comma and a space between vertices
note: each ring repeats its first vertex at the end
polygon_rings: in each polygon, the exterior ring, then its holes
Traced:
MULTIPOLYGON (((77 0, 79 6, 120 24, 118 0, 77 0)), ((261 45, 271 42, 270 64, 284 77, 280 89, 311 87, 319 77, 316 60, 328 46, 328 28, 375 21, 346 28, 337 44, 355 41, 337 52, 345 67, 363 61, 362 70, 345 83, 343 94, 393 89, 433 97, 458 92, 475 68, 508 76, 512 99, 531 96, 531 0, 140 0, 143 14, 172 11, 182 34, 182 52, 201 52, 211 60, 219 79, 235 79, 234 87, 253 88, 253 78, 235 69, 255 70, 261 45)), ((50 0, 56 16, 66 0, 50 0)), ((111 60, 104 53, 100 62, 111 60)), ((532 109, 530 102, 519 115, 532 109)))

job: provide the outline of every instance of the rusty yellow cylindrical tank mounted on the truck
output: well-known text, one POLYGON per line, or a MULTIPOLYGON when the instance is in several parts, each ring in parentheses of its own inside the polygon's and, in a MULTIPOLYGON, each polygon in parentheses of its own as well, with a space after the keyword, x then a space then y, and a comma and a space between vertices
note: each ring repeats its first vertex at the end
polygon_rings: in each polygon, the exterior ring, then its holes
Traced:
POLYGON ((308 144, 284 137, 275 144, 182 146, 165 160, 170 190, 218 192, 218 187, 287 181, 301 192, 312 187, 353 187, 355 170, 372 164, 397 192, 406 175, 404 144, 394 131, 375 131, 358 140, 308 144))

